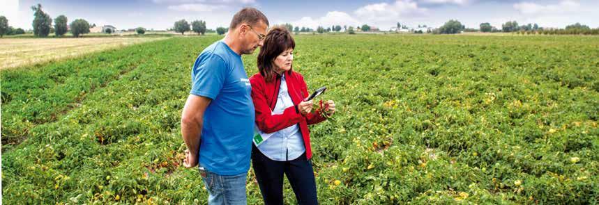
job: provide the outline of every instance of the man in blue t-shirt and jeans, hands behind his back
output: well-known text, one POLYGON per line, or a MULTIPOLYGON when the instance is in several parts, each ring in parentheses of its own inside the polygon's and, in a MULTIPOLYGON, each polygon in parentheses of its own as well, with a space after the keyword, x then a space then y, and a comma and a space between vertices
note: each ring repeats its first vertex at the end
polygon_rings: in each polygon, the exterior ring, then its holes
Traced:
POLYGON ((225 38, 204 49, 192 67, 192 88, 181 114, 188 148, 183 164, 199 163, 208 204, 246 204, 255 112, 241 55, 262 46, 267 27, 259 10, 243 8, 225 38))

